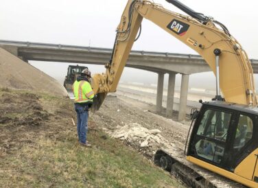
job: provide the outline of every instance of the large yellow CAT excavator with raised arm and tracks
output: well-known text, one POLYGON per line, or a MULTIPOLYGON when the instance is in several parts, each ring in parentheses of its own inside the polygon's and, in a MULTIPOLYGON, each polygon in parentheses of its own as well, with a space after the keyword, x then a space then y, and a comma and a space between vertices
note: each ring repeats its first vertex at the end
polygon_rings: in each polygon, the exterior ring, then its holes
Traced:
MULTIPOLYGON (((197 51, 216 76, 215 98, 202 102, 200 110, 193 113, 185 145, 187 161, 242 185, 258 187, 258 108, 248 56, 222 23, 179 1, 166 1, 188 16, 152 1, 128 0, 106 73, 93 76, 94 109, 101 106, 107 93, 116 91, 134 40, 139 38, 137 33, 141 34, 141 21, 148 19, 197 51)), ((182 177, 190 187, 241 187, 237 183, 224 185, 220 180, 214 183, 212 176, 184 164, 173 151, 157 151, 154 163, 182 177)))

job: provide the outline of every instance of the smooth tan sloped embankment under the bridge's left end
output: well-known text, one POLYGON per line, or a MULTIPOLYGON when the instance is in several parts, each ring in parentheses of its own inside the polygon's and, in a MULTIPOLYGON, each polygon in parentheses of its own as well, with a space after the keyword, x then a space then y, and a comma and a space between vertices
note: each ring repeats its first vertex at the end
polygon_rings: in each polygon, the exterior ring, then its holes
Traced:
POLYGON ((67 96, 65 88, 54 78, 0 48, 0 87, 30 89, 67 96))

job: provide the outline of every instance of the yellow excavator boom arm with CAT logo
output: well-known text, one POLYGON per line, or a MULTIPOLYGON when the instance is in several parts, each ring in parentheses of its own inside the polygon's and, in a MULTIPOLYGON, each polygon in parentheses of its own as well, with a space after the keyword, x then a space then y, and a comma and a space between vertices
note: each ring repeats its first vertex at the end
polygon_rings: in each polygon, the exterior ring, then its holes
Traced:
MULTIPOLYGON (((187 11, 193 12, 189 8, 187 11)), ((93 78, 93 90, 95 93, 102 93, 99 94, 102 99, 97 108, 102 104, 106 93, 116 91, 143 18, 197 51, 213 73, 216 71, 214 50, 220 49, 220 89, 226 102, 253 106, 257 104, 253 69, 248 56, 224 25, 202 15, 193 18, 178 14, 151 1, 129 0, 117 27, 113 55, 106 64, 106 74, 95 75, 93 78), (216 24, 220 24, 223 30, 216 24)))

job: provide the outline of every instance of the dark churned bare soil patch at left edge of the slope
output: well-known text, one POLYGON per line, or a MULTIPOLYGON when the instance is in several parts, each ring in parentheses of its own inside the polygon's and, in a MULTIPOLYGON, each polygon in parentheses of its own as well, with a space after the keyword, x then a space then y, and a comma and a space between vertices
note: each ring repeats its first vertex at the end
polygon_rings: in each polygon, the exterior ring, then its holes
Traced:
POLYGON ((28 139, 24 130, 39 130, 50 114, 43 110, 34 93, 12 93, 5 89, 0 92, 0 156, 17 150, 21 139, 28 139))

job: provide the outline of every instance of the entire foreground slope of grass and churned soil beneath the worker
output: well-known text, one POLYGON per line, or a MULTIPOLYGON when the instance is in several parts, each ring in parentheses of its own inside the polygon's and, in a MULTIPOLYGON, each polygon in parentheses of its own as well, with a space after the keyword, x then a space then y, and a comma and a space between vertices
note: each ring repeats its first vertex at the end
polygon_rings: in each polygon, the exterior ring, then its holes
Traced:
POLYGON ((90 115, 93 147, 85 148, 70 99, 0 89, 0 187, 184 187, 101 131, 113 121, 109 115, 102 121, 90 115))

